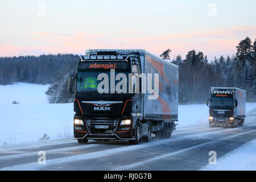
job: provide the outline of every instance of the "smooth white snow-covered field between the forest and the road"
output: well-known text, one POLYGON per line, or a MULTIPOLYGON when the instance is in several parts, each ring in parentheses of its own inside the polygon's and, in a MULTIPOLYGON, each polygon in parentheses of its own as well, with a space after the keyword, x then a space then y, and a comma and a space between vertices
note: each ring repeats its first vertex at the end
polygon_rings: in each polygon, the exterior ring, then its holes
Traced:
MULTIPOLYGON (((0 146, 73 137, 73 104, 48 104, 49 85, 15 83, 0 85, 0 146), (13 101, 19 104, 12 104, 13 101)), ((246 112, 256 103, 246 104, 246 112)), ((180 105, 181 127, 208 123, 206 105, 180 105)))

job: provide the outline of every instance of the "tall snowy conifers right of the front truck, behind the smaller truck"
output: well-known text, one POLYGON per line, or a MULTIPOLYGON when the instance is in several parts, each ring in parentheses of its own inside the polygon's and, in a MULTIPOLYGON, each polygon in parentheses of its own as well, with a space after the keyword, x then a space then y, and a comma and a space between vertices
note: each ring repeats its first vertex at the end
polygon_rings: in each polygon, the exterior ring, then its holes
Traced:
MULTIPOLYGON (((256 101, 256 39, 249 37, 238 44, 236 55, 215 57, 209 62, 203 52, 189 51, 185 59, 170 60, 179 66, 179 103, 204 103, 212 86, 237 87, 246 90, 246 101, 256 101)), ((163 59, 169 57, 167 49, 163 59)), ((168 59, 166 59, 168 60, 168 59)))

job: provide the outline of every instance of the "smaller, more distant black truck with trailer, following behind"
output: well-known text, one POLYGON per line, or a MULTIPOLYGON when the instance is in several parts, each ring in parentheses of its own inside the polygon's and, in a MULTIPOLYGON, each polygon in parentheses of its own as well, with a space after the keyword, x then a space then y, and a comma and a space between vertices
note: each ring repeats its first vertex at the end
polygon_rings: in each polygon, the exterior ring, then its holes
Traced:
POLYGON ((245 122, 246 91, 239 88, 212 87, 209 106, 209 125, 238 127, 245 122))

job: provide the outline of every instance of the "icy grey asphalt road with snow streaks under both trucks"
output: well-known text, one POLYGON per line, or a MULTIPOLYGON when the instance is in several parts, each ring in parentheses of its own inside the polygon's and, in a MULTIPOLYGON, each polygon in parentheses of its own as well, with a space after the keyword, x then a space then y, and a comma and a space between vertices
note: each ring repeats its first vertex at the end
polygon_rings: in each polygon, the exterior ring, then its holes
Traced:
POLYGON ((256 138, 256 110, 245 126, 183 127, 169 139, 152 139, 129 145, 126 141, 79 144, 76 140, 51 140, 0 148, 0 170, 197 170, 208 164, 209 151, 221 156, 256 138), (38 152, 46 164, 38 164, 38 152))

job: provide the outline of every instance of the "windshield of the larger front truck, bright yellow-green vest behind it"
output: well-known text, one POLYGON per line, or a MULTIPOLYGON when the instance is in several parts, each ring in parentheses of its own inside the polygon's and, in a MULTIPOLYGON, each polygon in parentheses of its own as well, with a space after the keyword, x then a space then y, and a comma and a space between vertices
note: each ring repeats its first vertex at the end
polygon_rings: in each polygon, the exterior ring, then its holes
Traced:
MULTIPOLYGON (((97 77, 100 73, 106 73, 108 75, 108 83, 109 83, 109 92, 110 92, 110 70, 106 71, 78 71, 77 75, 77 86, 76 89, 78 92, 97 92, 98 84, 104 80, 97 80, 97 77)), ((127 71, 115 71, 115 76, 117 76, 118 73, 123 73, 126 75, 126 78, 129 77, 129 72, 127 71)), ((122 80, 122 78, 121 78, 122 80)), ((115 85, 121 80, 115 80, 115 85)), ((126 83, 126 88, 128 89, 128 83, 126 83)), ((104 89, 104 88, 103 88, 104 89)), ((122 86, 121 86, 122 89, 122 86)), ((128 91, 127 91, 128 92, 128 91)))

